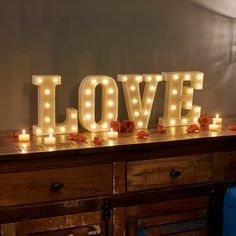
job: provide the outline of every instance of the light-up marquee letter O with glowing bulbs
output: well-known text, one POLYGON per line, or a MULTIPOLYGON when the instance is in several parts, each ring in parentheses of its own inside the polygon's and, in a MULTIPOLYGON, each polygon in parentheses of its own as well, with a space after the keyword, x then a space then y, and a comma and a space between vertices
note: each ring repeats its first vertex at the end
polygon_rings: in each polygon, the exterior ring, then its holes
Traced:
POLYGON ((109 76, 87 76, 79 88, 79 119, 83 128, 91 132, 108 131, 112 120, 118 117, 118 88, 109 76), (95 121, 95 88, 102 86, 102 115, 95 121))

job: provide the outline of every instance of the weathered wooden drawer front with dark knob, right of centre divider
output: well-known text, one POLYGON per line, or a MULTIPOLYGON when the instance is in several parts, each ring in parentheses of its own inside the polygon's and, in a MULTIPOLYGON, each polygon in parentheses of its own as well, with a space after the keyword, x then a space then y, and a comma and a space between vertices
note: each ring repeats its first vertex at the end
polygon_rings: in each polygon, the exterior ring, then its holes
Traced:
POLYGON ((212 180, 213 154, 134 161, 127 164, 127 191, 212 180))

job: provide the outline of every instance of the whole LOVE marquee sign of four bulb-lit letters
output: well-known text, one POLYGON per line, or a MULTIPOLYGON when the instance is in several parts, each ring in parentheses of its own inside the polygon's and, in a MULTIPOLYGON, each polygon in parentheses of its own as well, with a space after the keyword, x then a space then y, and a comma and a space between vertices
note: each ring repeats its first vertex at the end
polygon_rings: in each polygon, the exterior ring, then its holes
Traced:
MULTIPOLYGON (((194 89, 203 88, 204 74, 201 72, 166 72, 144 75, 118 75, 122 83, 129 120, 133 120, 137 129, 148 127, 156 89, 165 81, 164 116, 159 118, 163 126, 179 126, 197 123, 201 107, 193 105, 194 89), (189 81, 188 86, 184 85, 189 81), (139 84, 145 82, 141 97, 139 84), (182 108, 188 110, 182 115, 182 108)), ((108 131, 110 122, 118 118, 118 87, 112 77, 90 75, 83 79, 78 91, 78 110, 67 108, 66 119, 56 123, 55 92, 61 84, 58 75, 34 75, 33 84, 38 86, 38 124, 33 125, 33 134, 37 136, 78 132, 78 119, 86 130, 91 132, 108 131), (101 120, 95 121, 95 88, 102 86, 101 120)))

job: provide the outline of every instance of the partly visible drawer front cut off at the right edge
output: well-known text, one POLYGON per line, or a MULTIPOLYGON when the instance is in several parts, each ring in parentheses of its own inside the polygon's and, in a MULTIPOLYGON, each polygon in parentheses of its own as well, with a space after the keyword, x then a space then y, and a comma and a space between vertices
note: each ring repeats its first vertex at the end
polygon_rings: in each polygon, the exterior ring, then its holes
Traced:
POLYGON ((236 179, 236 152, 225 153, 225 179, 236 179))

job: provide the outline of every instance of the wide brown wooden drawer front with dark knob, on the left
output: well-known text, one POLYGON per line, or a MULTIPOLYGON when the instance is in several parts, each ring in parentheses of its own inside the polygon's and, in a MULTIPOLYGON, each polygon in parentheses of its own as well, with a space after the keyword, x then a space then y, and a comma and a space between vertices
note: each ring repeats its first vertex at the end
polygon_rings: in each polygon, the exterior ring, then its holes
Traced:
POLYGON ((112 165, 82 166, 0 175, 0 206, 112 193, 112 165))

